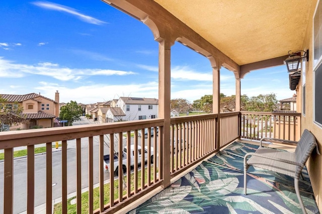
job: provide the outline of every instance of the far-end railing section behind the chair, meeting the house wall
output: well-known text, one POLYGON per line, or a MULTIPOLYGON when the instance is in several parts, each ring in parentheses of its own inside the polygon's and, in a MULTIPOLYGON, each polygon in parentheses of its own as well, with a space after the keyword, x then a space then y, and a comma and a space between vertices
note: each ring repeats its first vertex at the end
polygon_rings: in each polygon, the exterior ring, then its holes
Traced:
POLYGON ((240 137, 260 140, 263 137, 298 141, 300 113, 241 112, 240 137))

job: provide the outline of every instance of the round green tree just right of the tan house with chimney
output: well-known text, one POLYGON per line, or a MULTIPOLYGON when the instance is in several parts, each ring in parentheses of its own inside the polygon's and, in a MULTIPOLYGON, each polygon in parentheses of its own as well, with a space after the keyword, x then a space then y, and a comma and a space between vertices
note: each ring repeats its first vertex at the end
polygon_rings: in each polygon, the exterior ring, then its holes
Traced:
POLYGON ((82 115, 82 106, 77 105, 76 101, 70 100, 70 102, 61 107, 59 118, 60 120, 68 121, 67 126, 71 126, 74 121, 81 120, 82 115))

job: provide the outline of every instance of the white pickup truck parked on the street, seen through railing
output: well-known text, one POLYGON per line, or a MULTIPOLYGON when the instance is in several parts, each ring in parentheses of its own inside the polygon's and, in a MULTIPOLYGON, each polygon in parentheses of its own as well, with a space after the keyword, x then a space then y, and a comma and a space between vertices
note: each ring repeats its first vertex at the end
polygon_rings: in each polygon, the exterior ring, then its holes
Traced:
MULTIPOLYGON (((143 149, 143 152, 145 153, 144 154, 144 161, 147 161, 147 146, 144 147, 143 149)), ((150 156, 150 160, 151 160, 151 163, 153 163, 153 147, 150 148, 150 151, 151 151, 151 156, 150 156)), ((123 149, 123 152, 122 152, 122 169, 123 169, 123 172, 126 171, 126 167, 127 167, 127 147, 125 146, 124 149, 123 149)), ((131 166, 134 166, 134 145, 131 145, 130 147, 130 167, 131 166)), ((138 160, 138 163, 141 163, 141 152, 142 152, 142 148, 141 146, 137 146, 137 160, 138 160)), ((110 169, 110 155, 104 155, 104 172, 109 172, 109 169, 110 169)), ((118 152, 117 153, 114 153, 114 174, 118 175, 118 171, 119 171, 119 154, 118 152)))

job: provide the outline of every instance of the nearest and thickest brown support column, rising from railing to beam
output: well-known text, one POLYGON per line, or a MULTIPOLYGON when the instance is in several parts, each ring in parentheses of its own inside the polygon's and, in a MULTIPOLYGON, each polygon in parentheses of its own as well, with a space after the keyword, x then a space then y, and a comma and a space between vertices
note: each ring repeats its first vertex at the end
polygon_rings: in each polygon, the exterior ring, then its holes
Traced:
POLYGON ((163 188, 170 185, 170 99, 171 99, 171 42, 162 40, 159 42, 159 102, 158 115, 163 118, 163 141, 162 174, 164 183, 163 188))

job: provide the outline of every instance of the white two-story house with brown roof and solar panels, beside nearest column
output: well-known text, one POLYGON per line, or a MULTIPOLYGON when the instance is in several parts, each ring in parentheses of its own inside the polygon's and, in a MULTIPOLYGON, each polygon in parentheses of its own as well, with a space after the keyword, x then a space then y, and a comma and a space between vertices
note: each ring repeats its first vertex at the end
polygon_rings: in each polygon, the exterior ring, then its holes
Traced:
POLYGON ((157 118, 158 99, 140 97, 120 97, 116 107, 121 108, 126 121, 157 118))

